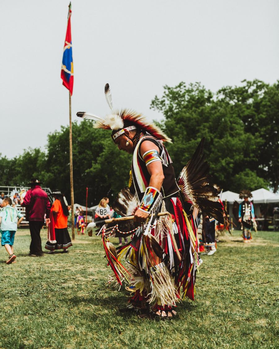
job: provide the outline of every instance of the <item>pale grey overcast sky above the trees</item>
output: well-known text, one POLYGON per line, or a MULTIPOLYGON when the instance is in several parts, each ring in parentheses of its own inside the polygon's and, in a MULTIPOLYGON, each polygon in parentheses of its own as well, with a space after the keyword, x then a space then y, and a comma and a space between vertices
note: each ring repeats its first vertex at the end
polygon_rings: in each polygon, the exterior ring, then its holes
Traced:
MULTIPOLYGON (((69 0, 0 1, 0 153, 14 157, 47 143, 69 123, 60 78, 69 0)), ((243 79, 279 78, 278 0, 73 0, 77 111, 149 109, 165 84, 200 81, 213 91, 243 79)))

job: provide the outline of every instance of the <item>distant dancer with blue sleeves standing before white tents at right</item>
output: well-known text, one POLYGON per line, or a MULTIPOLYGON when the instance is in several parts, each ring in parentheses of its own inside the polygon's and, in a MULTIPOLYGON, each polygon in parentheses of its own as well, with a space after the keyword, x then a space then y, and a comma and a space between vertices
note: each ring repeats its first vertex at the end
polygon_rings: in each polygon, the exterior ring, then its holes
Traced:
POLYGON ((244 199, 239 205, 238 221, 242 224, 242 236, 243 242, 245 243, 251 242, 252 240, 252 225, 254 225, 256 229, 254 206, 252 202, 248 201, 248 198, 252 198, 252 196, 253 195, 249 190, 242 190, 239 194, 239 198, 244 199))

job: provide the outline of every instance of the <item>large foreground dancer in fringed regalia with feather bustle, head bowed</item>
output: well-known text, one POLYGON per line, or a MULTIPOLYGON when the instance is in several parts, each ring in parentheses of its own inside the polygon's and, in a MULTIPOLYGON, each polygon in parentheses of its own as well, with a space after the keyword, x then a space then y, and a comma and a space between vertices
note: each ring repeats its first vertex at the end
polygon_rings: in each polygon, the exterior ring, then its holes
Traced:
POLYGON ((114 272, 110 282, 128 284, 131 297, 127 309, 137 310, 140 317, 172 318, 176 302, 185 296, 194 300, 198 207, 220 221, 223 217, 217 191, 208 183, 204 140, 176 182, 163 144, 171 140, 141 114, 114 110, 108 84, 105 95, 111 115, 100 118, 79 112, 77 116, 97 121, 96 128, 112 129, 118 148, 133 154, 129 188, 121 190, 113 209, 122 217, 134 213, 134 222, 112 222, 99 231, 114 272), (157 216, 164 211, 169 215, 157 216), (131 241, 115 249, 109 236, 131 236, 131 241))

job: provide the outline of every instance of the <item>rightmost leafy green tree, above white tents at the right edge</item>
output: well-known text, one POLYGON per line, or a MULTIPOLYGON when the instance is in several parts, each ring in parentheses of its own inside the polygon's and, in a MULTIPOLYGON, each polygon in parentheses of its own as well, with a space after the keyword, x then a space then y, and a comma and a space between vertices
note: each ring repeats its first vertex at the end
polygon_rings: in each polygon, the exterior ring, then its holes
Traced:
POLYGON ((260 80, 218 91, 244 124, 245 134, 257 140, 249 168, 269 181, 274 192, 279 186, 279 81, 269 86, 260 80))

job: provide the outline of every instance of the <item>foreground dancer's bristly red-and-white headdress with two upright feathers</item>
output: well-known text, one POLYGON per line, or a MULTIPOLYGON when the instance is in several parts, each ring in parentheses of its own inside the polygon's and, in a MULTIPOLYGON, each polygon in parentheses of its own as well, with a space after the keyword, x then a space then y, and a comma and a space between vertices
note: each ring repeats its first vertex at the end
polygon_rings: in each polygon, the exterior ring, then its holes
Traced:
POLYGON ((163 142, 171 142, 172 140, 156 125, 149 123, 142 114, 130 109, 114 110, 112 104, 112 96, 109 84, 105 86, 105 96, 111 114, 105 117, 99 117, 88 112, 78 112, 77 116, 82 119, 94 120, 95 128, 104 128, 117 131, 125 129, 127 126, 135 126, 137 129, 144 130, 152 136, 163 142))

